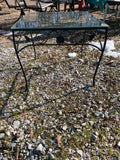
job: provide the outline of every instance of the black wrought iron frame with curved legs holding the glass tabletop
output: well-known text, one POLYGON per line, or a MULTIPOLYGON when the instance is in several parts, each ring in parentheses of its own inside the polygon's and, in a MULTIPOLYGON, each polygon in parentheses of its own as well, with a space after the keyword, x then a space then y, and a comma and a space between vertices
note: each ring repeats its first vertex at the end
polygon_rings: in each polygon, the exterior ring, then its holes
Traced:
MULTIPOLYGON (((21 67, 21 70, 22 70, 22 72, 23 72, 23 76, 24 76, 24 79, 25 79, 25 88, 26 88, 26 90, 28 90, 28 82, 27 82, 27 78, 26 78, 26 74, 25 74, 25 71, 24 71, 24 68, 23 68, 23 65, 22 65, 22 63, 21 63, 21 60, 20 60, 20 57, 19 57, 19 53, 24 49, 24 48, 26 48, 26 47, 28 47, 28 46, 33 46, 33 49, 34 49, 34 53, 35 53, 35 58, 36 58, 36 50, 35 50, 35 46, 36 45, 81 45, 81 51, 82 51, 82 49, 83 49, 83 46, 84 45, 91 45, 91 46, 93 46, 93 47, 95 47, 95 48, 97 48, 99 51, 101 51, 101 54, 100 54, 100 57, 99 57, 99 61, 98 61, 98 63, 97 63, 97 65, 96 65, 96 69, 95 69, 95 72, 94 72, 94 75, 93 75, 93 86, 95 86, 95 78, 96 78, 96 74, 97 74, 97 71, 98 71, 98 68, 99 68, 99 65, 100 65, 100 62, 101 62, 101 59, 102 59, 102 56, 103 56, 103 53, 104 53, 104 50, 105 50, 105 46, 106 46, 106 41, 107 41, 107 33, 108 33, 108 26, 104 26, 104 27, 84 27, 84 28, 66 28, 66 27, 64 27, 64 28, 61 28, 61 27, 57 27, 57 28, 48 28, 48 29, 13 29, 12 28, 12 33, 13 33, 13 43, 14 43, 14 49, 15 49, 15 53, 16 53, 16 56, 17 56, 17 59, 18 59, 18 62, 19 62, 19 64, 20 64, 20 67, 21 67), (100 48, 98 47, 98 46, 95 46, 95 45, 93 45, 92 43, 86 43, 85 42, 85 36, 87 35, 86 33, 88 32, 88 31, 94 31, 94 33, 95 34, 97 34, 96 33, 96 31, 97 32, 100 32, 100 30, 101 29, 103 29, 103 30, 105 30, 105 34, 104 34, 104 43, 102 44, 102 42, 101 42, 101 40, 99 39, 99 42, 100 42, 100 48), (34 41, 34 38, 33 38, 33 36, 32 36, 32 34, 35 34, 35 33, 39 33, 39 32, 46 32, 46 31, 50 31, 50 32, 54 32, 54 31, 60 31, 60 32, 66 32, 66 31, 74 31, 74 30, 79 30, 79 31, 84 31, 84 33, 83 33, 83 41, 81 41, 81 42, 76 42, 76 43, 68 43, 68 44, 66 44, 66 43, 64 43, 64 37, 62 37, 62 36, 59 36, 59 35, 56 35, 56 39, 57 39, 57 42, 56 43, 50 43, 50 44, 46 44, 46 43, 42 43, 42 42, 39 42, 39 43, 36 43, 35 44, 35 41, 34 41), (28 35, 28 33, 31 35, 31 38, 29 37, 28 39, 26 39, 26 40, 28 40, 29 42, 31 42, 30 44, 27 44, 26 46, 24 46, 24 47, 22 47, 22 48, 20 48, 19 49, 19 43, 20 42, 18 42, 18 41, 16 41, 16 33, 15 32, 19 32, 19 35, 21 34, 21 32, 22 32, 22 34, 20 35, 20 36, 25 36, 25 35, 28 35), (25 33, 25 35, 24 35, 24 33, 25 33)), ((92 32, 93 33, 93 32, 92 32)), ((18 33, 17 33, 18 34, 18 33)))

